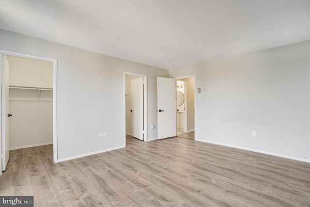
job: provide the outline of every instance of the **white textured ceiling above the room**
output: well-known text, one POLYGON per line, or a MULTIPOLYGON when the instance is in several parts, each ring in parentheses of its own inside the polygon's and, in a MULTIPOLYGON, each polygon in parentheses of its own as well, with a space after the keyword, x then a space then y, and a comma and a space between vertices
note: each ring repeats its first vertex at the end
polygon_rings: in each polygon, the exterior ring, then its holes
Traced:
POLYGON ((171 69, 310 40, 310 0, 0 0, 0 29, 171 69))

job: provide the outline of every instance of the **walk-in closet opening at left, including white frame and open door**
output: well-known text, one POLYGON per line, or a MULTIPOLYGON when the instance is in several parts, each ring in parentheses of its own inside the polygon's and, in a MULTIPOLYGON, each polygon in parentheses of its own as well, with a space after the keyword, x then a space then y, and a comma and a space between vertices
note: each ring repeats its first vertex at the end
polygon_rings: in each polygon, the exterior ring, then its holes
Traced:
MULTIPOLYGON (((1 53, 2 170, 9 150, 56 143, 56 60, 1 53)), ((54 149, 54 162, 57 161, 54 149)))

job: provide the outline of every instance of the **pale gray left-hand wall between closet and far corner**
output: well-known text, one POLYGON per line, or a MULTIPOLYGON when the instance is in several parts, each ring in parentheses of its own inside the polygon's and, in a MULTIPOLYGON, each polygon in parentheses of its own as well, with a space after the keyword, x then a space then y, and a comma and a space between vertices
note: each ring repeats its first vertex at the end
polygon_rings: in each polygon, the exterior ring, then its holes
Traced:
POLYGON ((0 49, 57 59, 58 159, 124 146, 124 72, 148 76, 148 138, 157 137, 156 77, 168 70, 4 30, 0 49))

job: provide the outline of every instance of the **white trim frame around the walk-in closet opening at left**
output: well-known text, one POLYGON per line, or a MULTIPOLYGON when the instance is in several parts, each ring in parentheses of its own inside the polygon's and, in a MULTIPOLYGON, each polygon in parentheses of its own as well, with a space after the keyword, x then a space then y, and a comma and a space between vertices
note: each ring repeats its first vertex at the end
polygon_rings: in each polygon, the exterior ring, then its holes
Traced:
MULTIPOLYGON (((54 158, 54 162, 57 162, 57 159, 58 159, 58 153, 57 153, 57 60, 0 49, 0 69, 1 69, 0 75, 1 77, 2 77, 2 55, 11 55, 11 56, 16 56, 16 57, 29 58, 29 59, 41 60, 41 61, 47 61, 47 62, 53 63, 53 158, 54 158)), ((1 102, 2 100, 0 100, 0 104, 1 102)), ((0 139, 0 141, 2 142, 2 138, 0 139)), ((2 156, 1 156, 1 159, 2 159, 2 156)), ((0 169, 0 174, 1 172, 2 172, 2 166, 0 169)))

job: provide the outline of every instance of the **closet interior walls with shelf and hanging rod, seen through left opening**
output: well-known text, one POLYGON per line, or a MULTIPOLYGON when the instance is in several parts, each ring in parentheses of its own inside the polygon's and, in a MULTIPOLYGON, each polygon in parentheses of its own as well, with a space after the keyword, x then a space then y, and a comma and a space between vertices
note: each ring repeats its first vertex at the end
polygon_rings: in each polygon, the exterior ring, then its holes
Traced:
POLYGON ((53 63, 6 55, 9 149, 53 143, 53 63))

